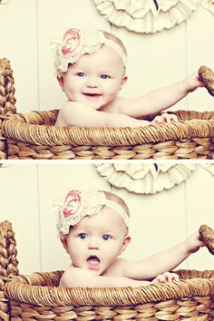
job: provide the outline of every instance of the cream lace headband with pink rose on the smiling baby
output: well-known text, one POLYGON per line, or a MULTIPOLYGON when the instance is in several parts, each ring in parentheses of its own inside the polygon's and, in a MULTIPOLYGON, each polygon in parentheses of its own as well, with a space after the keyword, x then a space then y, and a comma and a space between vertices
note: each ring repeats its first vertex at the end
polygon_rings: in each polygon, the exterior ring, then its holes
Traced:
POLYGON ((83 54, 97 52, 102 44, 116 50, 126 66, 127 57, 120 45, 107 39, 101 30, 71 28, 63 34, 63 38, 52 42, 56 74, 66 72, 69 63, 76 63, 83 54))

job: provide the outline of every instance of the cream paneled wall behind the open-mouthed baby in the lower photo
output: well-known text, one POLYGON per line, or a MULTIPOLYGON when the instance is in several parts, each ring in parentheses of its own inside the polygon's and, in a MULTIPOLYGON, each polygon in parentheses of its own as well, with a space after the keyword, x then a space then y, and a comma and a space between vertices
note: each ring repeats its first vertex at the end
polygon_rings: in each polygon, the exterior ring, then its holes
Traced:
MULTIPOLYGON (((93 163, 80 161, 10 163, 0 168, 0 181, 0 221, 13 223, 22 274, 64 269, 69 264, 53 215, 53 199, 68 188, 93 185, 126 200, 131 209, 131 245, 123 257, 131 260, 174 246, 201 224, 214 227, 214 176, 199 164, 180 185, 153 195, 112 188, 93 163)), ((213 269, 213 257, 201 248, 180 268, 213 269)))

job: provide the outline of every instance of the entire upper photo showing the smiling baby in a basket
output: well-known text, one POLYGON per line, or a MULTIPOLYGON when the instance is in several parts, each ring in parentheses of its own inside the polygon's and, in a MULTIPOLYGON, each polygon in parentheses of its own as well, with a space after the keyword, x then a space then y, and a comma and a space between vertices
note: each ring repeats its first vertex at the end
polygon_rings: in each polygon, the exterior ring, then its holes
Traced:
POLYGON ((214 159, 213 2, 3 0, 0 27, 0 160, 214 159))

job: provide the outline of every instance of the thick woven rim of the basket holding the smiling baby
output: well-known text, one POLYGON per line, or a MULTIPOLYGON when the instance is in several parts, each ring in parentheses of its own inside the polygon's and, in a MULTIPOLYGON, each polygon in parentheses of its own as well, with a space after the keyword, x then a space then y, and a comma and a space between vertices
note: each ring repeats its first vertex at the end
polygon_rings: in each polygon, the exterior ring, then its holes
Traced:
POLYGON ((150 142, 182 140, 190 138, 206 138, 214 136, 214 112, 178 111, 176 114, 191 115, 194 112, 199 119, 181 120, 174 123, 157 123, 146 127, 136 128, 84 128, 84 127, 57 127, 53 125, 34 124, 31 115, 40 115, 43 119, 53 111, 34 111, 28 114, 15 114, 9 116, 2 123, 2 132, 6 138, 17 141, 27 141, 35 145, 100 145, 123 146, 136 145, 150 142), (28 117, 27 122, 24 123, 28 117), (208 115, 209 119, 206 119, 208 115), (204 119, 205 118, 205 119, 204 119))

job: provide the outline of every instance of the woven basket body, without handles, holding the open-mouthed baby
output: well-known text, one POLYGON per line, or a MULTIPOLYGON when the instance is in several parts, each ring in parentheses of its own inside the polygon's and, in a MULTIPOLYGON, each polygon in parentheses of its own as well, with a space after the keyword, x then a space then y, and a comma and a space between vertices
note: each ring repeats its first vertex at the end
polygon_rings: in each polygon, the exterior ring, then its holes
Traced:
POLYGON ((214 320, 214 271, 177 273, 179 282, 119 288, 57 287, 63 271, 8 278, 3 320, 214 320))

